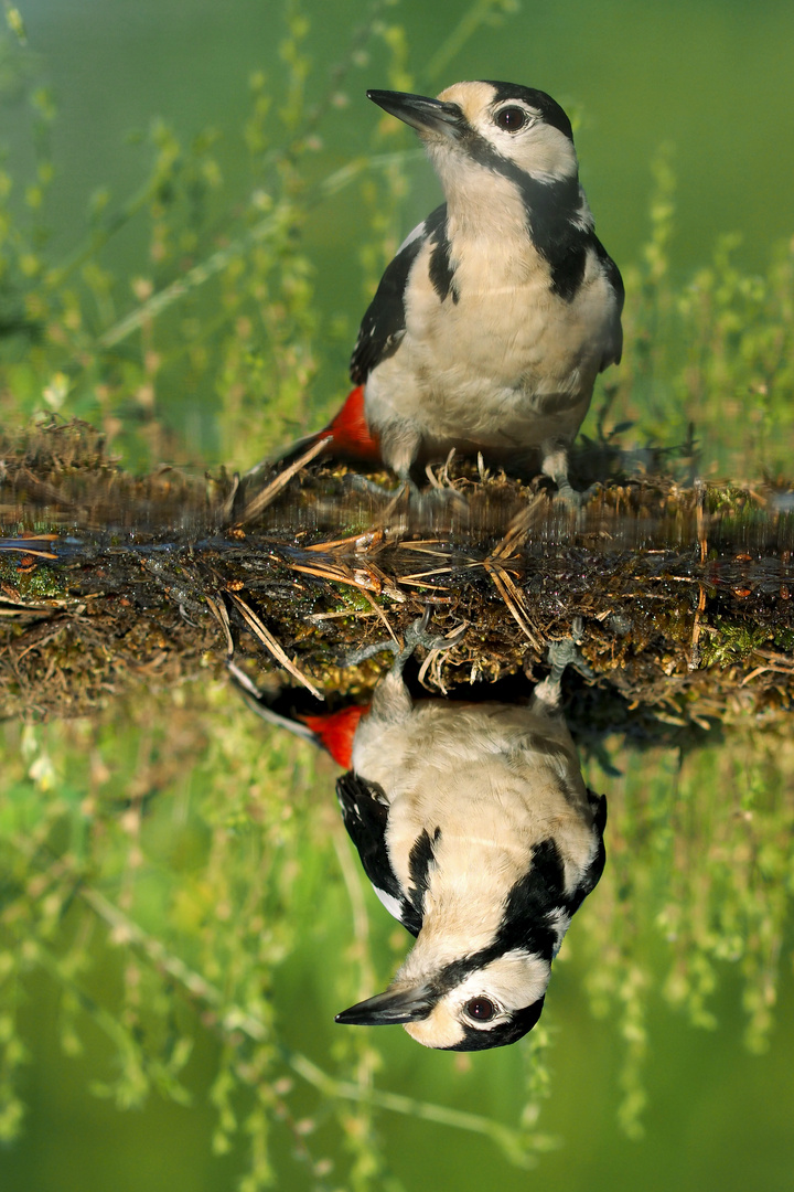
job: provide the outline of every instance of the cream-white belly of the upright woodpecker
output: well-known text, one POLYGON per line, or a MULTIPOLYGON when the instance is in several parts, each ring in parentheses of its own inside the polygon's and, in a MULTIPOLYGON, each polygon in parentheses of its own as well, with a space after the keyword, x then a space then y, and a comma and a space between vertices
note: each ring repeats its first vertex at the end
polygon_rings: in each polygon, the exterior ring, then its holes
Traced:
POLYGON ((545 283, 469 293, 459 303, 427 296, 398 352, 367 381, 368 422, 381 433, 408 422, 426 446, 511 451, 573 440, 604 354, 599 298, 571 308, 545 283))

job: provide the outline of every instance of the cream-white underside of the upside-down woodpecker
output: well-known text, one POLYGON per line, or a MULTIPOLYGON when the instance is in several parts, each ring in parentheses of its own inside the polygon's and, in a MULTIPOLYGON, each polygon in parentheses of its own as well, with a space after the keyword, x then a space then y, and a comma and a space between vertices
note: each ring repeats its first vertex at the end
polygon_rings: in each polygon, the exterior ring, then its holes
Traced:
MULTIPOLYGON (((437 828, 443 896, 494 914, 542 840, 554 838, 567 884, 590 859, 592 811, 562 719, 500 703, 421 701, 400 720, 362 720, 352 763, 389 801, 387 845, 404 888, 412 884, 414 842, 437 828)), ((484 938, 495 924, 481 926, 484 938)))

